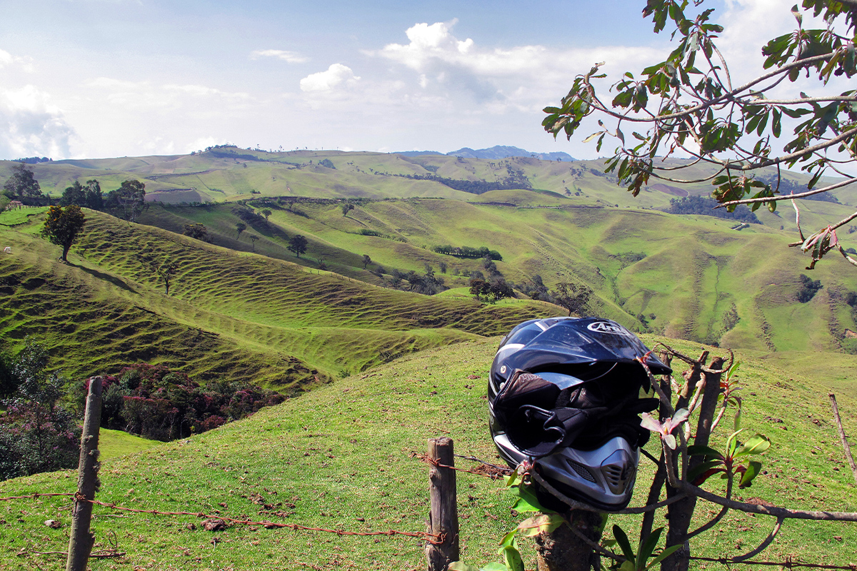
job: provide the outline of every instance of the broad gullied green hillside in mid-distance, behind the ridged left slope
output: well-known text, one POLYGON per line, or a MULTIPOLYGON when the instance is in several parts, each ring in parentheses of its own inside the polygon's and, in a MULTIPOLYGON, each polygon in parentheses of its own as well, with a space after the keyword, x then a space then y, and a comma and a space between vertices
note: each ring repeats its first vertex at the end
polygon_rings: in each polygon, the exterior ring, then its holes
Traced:
POLYGON ((240 246, 234 205, 157 206, 146 220, 169 229, 205 223, 217 233, 217 243, 247 249, 246 235, 253 231, 263 236, 256 243, 258 252, 310 268, 323 259, 328 268, 368 283, 380 283, 370 273, 378 265, 387 272, 422 273, 425 265, 439 272, 444 262, 446 285, 464 288, 470 272, 482 269, 481 260, 445 256, 431 248, 485 246, 502 254, 496 265, 508 280, 524 283, 539 275, 550 287, 563 281, 586 283, 598 296, 592 313, 636 330, 648 327, 733 347, 838 350, 849 347, 845 330, 857 329, 844 302, 848 292, 857 291, 850 266, 833 257, 806 271, 808 259, 785 246, 788 235, 779 229, 752 224, 736 231, 730 221, 652 210, 533 207, 537 194, 518 192, 519 199, 524 196, 530 197, 530 205, 382 200, 357 205, 345 217, 336 203, 300 203, 296 213, 253 202, 256 211, 267 207, 272 214, 268 227, 248 229, 240 246), (285 250, 288 236, 295 234, 309 239, 300 260, 285 250), (373 260, 365 270, 363 254, 373 260), (801 273, 824 286, 808 303, 798 300, 801 273), (730 321, 729 315, 738 320, 730 321))

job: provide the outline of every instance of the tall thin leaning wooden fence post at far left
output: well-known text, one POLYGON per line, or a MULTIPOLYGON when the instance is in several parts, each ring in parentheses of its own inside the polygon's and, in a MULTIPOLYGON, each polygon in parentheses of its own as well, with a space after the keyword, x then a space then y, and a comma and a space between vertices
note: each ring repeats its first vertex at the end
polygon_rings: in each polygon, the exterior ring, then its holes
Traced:
POLYGON ((77 494, 71 512, 71 537, 66 571, 86 571, 89 554, 93 550, 95 536, 89 532, 89 520, 99 486, 99 426, 101 425, 101 378, 89 379, 87 412, 83 419, 81 435, 81 459, 77 465, 77 494))

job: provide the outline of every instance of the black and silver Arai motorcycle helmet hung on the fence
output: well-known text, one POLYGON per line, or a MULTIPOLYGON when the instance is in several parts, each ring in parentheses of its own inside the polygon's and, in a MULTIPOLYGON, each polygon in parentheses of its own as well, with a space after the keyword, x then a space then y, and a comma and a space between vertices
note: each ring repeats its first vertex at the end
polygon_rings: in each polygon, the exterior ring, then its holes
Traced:
POLYGON ((670 372, 608 319, 519 324, 500 343, 488 381, 488 425, 500 456, 512 467, 534 461, 543 479, 578 501, 625 508, 649 437, 638 413, 657 407, 640 396, 650 390, 644 357, 654 374, 670 372))

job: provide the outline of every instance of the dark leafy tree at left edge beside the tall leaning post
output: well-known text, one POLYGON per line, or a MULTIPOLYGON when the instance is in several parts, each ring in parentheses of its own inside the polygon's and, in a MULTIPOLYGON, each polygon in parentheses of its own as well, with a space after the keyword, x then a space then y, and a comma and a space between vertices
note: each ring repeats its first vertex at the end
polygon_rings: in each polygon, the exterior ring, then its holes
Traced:
POLYGON ((61 404, 64 379, 47 364, 45 348, 27 339, 12 367, 17 390, 0 414, 0 479, 77 465, 81 431, 61 404))

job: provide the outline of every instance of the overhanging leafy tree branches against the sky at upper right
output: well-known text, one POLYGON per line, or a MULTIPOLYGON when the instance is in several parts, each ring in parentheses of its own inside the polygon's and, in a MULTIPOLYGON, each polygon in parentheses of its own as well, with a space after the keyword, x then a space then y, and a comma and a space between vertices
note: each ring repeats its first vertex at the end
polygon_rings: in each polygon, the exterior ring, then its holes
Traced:
MULTIPOLYGON (((597 140, 601 150, 605 137, 617 141, 607 171, 615 171, 619 183, 636 196, 651 179, 670 182, 711 181, 712 196, 728 211, 740 204, 776 210, 777 200, 806 199, 857 182, 857 91, 805 93, 780 98, 777 86, 788 86, 801 75, 813 76, 817 90, 830 80, 857 73, 854 56, 857 33, 857 3, 854 0, 803 0, 803 11, 794 6, 797 29, 770 39, 762 46, 764 73, 740 85, 733 83, 728 63, 714 40, 722 26, 710 22, 713 9, 702 2, 690 7, 686 1, 650 0, 644 17, 650 16, 659 33, 674 25, 675 50, 639 74, 625 73, 611 90, 612 99, 596 92, 596 80, 606 77, 601 63, 578 75, 571 90, 557 107, 546 107, 542 126, 554 138, 571 138, 587 116, 599 119, 599 128, 584 141, 597 140), (696 14, 686 15, 693 9, 696 14), (823 15, 826 28, 806 29, 804 15, 823 15), (785 116, 785 118, 784 118, 785 116), (602 120, 611 123, 605 125, 602 120), (783 122, 793 134, 780 141, 783 122), (794 129, 791 129, 794 125, 794 129), (623 132, 623 128, 625 132, 623 132), (631 132, 626 137, 626 132, 631 132), (670 156, 689 157, 685 164, 663 161, 670 156), (682 177, 681 171, 696 164, 715 167, 713 175, 697 180, 682 177), (800 164, 812 178, 806 192, 784 194, 781 169, 800 164), (773 181, 756 171, 776 167, 773 181), (851 170, 848 172, 848 170, 851 170), (820 177, 834 173, 846 178, 816 188, 820 177)), ((782 4, 785 7, 787 4, 782 4)), ((741 62, 746 65, 746 62, 741 62)), ((804 84, 801 84, 804 87, 804 84)), ((852 265, 857 259, 840 245, 836 229, 857 217, 857 212, 831 222, 812 235, 804 235, 798 218, 799 240, 789 246, 810 252, 812 269, 825 253, 838 250, 852 265)))

